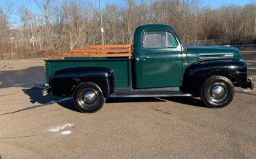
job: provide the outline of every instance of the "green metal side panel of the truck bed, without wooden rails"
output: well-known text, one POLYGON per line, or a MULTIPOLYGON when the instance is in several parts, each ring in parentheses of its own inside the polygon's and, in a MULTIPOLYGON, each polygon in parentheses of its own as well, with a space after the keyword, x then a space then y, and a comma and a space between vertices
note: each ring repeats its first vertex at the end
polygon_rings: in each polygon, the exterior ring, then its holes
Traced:
MULTIPOLYGON (((110 68, 115 77, 115 88, 131 88, 131 59, 128 57, 65 57, 64 59, 45 59, 46 83, 55 71, 75 67, 110 68)), ((74 75, 75 76, 75 75, 74 75)))

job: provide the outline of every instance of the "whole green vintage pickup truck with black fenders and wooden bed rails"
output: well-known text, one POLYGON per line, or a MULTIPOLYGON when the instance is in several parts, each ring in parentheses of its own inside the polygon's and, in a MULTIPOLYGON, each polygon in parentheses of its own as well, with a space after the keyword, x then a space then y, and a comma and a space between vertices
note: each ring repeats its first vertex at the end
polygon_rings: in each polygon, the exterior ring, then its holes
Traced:
POLYGON ((98 47, 47 57, 44 94, 73 95, 77 109, 91 113, 109 97, 201 97, 221 108, 232 102, 235 86, 254 88, 237 48, 183 47, 172 26, 138 26, 125 51, 98 47))

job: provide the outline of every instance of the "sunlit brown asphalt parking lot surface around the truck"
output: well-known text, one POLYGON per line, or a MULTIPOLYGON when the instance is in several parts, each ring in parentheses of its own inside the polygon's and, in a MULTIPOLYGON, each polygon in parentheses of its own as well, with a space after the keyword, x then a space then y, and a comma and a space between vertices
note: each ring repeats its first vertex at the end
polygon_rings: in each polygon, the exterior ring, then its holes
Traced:
MULTIPOLYGON (((244 52, 256 79, 256 52, 244 52)), ((0 158, 255 158, 256 90, 223 109, 199 98, 116 98, 80 113, 42 97, 43 59, 0 64, 0 158)), ((253 80, 256 84, 256 81, 253 80)))

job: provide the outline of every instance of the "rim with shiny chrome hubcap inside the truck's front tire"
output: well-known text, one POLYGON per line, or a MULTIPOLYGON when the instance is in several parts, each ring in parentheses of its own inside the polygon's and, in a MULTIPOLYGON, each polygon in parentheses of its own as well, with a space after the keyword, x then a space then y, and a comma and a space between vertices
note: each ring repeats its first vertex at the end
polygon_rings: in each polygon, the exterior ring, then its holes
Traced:
POLYGON ((222 82, 214 83, 209 86, 207 95, 211 104, 221 104, 227 99, 228 87, 222 82))

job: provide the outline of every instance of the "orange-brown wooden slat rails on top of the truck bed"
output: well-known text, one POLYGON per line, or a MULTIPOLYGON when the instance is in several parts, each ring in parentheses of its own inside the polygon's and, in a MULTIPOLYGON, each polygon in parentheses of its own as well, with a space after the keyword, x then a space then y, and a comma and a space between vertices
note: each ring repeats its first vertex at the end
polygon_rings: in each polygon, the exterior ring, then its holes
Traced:
POLYGON ((71 50, 71 53, 47 55, 46 59, 65 59, 65 57, 129 57, 132 56, 131 44, 89 45, 86 49, 71 50))

